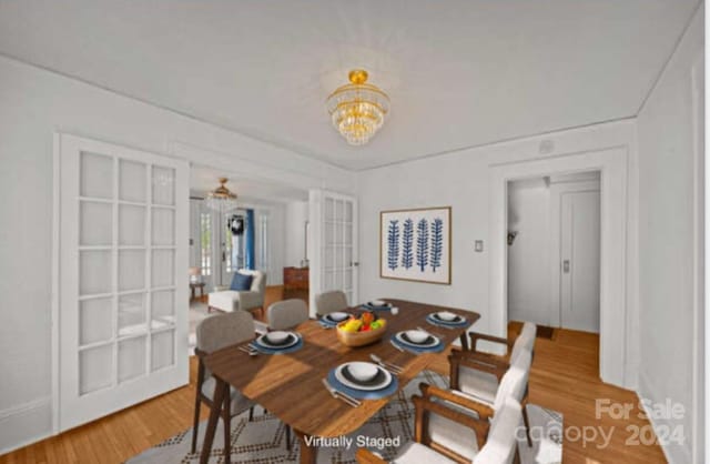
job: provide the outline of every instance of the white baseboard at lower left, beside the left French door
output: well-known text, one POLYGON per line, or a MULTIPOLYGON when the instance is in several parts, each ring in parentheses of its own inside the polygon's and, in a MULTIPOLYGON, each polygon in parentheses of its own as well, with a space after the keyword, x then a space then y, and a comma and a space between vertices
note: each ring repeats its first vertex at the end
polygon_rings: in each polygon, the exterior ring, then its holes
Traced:
MULTIPOLYGON (((42 415, 47 414, 47 421, 38 421, 34 426, 32 426, 30 422, 29 428, 37 428, 36 432, 28 431, 27 436, 19 440, 16 440, 14 443, 2 443, 0 440, 0 455, 10 453, 12 451, 19 450, 21 447, 31 445, 32 443, 37 443, 41 440, 48 438, 52 436, 52 424, 51 424, 51 415, 52 415, 52 401, 51 396, 43 396, 33 401, 29 401, 27 403, 18 404, 12 407, 4 408, 0 411, 0 430, 3 431, 18 431, 23 428, 19 423, 23 418, 28 418, 32 421, 32 415, 42 415), (44 423, 45 422, 45 423, 44 423), (43 428, 43 430, 42 430, 43 428)), ((3 433, 3 436, 8 436, 8 434, 3 433)), ((11 440, 11 438, 10 438, 11 440)))

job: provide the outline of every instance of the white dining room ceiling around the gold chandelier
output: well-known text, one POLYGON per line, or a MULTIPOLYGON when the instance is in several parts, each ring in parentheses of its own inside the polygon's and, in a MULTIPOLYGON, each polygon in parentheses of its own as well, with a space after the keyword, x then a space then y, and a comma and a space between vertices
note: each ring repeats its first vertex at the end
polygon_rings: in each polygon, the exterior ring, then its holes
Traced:
POLYGON ((635 115, 699 0, 4 0, 0 53, 348 169, 635 115), (392 98, 365 147, 324 100, 392 98))

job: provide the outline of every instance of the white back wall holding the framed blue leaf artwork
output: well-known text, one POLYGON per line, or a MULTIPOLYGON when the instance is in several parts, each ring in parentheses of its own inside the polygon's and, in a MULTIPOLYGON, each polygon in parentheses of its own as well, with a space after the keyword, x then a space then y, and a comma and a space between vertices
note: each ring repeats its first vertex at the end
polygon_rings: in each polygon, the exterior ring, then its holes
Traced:
MULTIPOLYGON (((361 300, 376 297, 400 297, 458 306, 476 311, 481 319, 476 329, 491 333, 498 325, 489 311, 491 294, 489 288, 490 241, 489 182, 490 171, 508 163, 524 160, 559 160, 566 155, 612 150, 625 157, 628 163, 626 182, 628 208, 620 211, 627 223, 626 263, 619 270, 626 281, 627 322, 622 324, 623 340, 617 340, 615 355, 621 353, 622 375, 615 380, 627 387, 636 386, 638 356, 638 313, 636 305, 636 249, 638 192, 636 184, 636 127, 633 120, 597 124, 578 130, 561 131, 541 137, 521 139, 476 149, 394 164, 358 173, 361 253, 359 282, 361 300), (540 153, 541 142, 554 144, 551 152, 540 153), (453 208, 453 269, 452 285, 435 285, 381 279, 379 263, 379 212, 407 208, 446 206, 453 208), (475 240, 484 240, 485 251, 474 251, 475 240)), ((589 168, 587 168, 589 169, 589 168)), ((618 206, 622 208, 622 206, 618 206)))

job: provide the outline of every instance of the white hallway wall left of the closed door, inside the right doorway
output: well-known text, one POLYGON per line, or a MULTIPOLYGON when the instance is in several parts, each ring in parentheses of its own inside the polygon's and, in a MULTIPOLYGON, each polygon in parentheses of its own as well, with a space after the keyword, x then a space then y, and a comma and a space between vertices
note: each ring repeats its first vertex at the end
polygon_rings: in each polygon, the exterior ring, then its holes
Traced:
POLYGON ((550 192, 542 179, 508 184, 508 319, 551 325, 550 192))

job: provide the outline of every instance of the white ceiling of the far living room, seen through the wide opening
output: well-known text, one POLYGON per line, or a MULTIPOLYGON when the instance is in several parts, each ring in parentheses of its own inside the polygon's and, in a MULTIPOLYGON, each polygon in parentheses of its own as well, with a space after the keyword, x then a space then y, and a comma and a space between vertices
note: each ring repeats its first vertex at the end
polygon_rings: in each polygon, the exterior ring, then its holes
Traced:
POLYGON ((219 171, 212 168, 193 165, 190 168, 190 193, 199 196, 206 194, 219 186, 217 179, 229 179, 227 189, 236 193, 237 201, 250 203, 288 203, 293 201, 307 201, 307 190, 288 185, 243 179, 237 174, 219 171))

